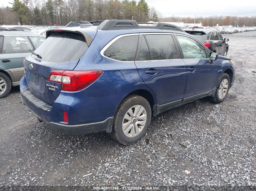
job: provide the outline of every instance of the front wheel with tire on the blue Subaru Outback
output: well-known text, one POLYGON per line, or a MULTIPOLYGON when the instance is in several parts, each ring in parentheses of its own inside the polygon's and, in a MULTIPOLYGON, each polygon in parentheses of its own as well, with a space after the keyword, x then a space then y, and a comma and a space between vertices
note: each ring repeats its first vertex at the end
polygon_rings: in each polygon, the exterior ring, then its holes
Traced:
POLYGON ((230 78, 227 73, 223 73, 218 80, 216 91, 213 97, 210 97, 210 101, 213 103, 221 103, 228 95, 230 88, 230 78))

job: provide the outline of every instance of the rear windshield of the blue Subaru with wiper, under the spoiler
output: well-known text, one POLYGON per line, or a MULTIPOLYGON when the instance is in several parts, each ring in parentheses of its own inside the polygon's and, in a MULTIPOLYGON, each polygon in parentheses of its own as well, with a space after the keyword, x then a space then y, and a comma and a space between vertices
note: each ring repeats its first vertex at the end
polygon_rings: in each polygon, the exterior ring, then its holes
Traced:
MULTIPOLYGON (((82 35, 54 32, 34 52, 47 62, 70 62, 80 59, 87 49, 87 43, 82 35)), ((33 54, 32 57, 38 59, 33 54)))

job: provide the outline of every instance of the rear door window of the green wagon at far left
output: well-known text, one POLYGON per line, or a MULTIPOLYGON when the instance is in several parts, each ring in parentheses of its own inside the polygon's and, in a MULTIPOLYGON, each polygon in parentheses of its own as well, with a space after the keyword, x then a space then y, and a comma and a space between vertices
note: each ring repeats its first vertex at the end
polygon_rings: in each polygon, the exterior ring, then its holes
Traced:
POLYGON ((33 47, 28 37, 25 36, 5 36, 3 43, 3 53, 31 53, 33 47))

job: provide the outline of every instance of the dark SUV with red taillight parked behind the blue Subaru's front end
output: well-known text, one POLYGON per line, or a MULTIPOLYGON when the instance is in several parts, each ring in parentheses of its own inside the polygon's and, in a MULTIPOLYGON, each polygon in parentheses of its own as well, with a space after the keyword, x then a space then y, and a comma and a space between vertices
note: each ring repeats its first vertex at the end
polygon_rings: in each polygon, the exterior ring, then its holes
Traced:
POLYGON ((200 40, 211 52, 221 56, 228 54, 228 38, 223 38, 221 33, 215 29, 186 29, 187 33, 192 34, 200 40))

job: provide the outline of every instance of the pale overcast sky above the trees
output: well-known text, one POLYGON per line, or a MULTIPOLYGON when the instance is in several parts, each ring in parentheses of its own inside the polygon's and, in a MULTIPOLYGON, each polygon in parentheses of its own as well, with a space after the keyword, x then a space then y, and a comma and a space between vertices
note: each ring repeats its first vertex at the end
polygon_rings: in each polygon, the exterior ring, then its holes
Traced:
MULTIPOLYGON (((40 0, 39 0, 40 1, 40 0)), ((136 0, 137 2, 139 0, 136 0)), ((256 0, 145 0, 149 7, 153 6, 163 17, 171 15, 180 17, 236 15, 256 16, 256 0)), ((0 6, 10 6, 13 0, 0 0, 0 6)))

